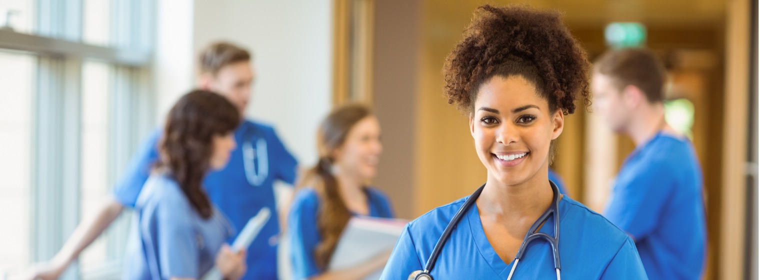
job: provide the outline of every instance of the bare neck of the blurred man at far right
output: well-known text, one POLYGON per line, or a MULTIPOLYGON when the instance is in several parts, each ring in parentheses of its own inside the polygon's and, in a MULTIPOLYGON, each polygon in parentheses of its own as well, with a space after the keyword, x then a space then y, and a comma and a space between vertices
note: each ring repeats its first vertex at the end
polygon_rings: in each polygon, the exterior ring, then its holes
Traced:
POLYGON ((629 126, 627 134, 636 143, 636 147, 644 145, 657 132, 660 132, 660 130, 667 126, 665 122, 665 107, 662 103, 642 106, 634 116, 635 119, 633 119, 631 126, 629 126))

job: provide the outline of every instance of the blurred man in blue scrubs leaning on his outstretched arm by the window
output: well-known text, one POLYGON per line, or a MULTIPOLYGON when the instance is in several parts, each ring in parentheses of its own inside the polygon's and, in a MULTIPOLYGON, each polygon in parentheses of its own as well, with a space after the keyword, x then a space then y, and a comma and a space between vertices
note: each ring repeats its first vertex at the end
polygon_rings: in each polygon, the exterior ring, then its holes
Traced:
MULTIPOLYGON (((214 43, 201 51, 198 61, 198 86, 215 91, 230 100, 243 116, 251 96, 254 72, 250 53, 231 43, 214 43)), ((159 154, 160 129, 151 134, 132 158, 111 199, 99 212, 84 221, 71 235, 61 251, 49 263, 36 267, 36 278, 58 278, 77 259, 125 207, 134 208, 138 195, 150 175, 159 154)), ((291 185, 296 180, 296 158, 280 142, 271 126, 245 119, 234 132, 237 147, 230 162, 221 170, 209 173, 204 187, 214 204, 219 205, 239 232, 261 208, 274 211, 273 184, 282 180, 291 185)), ((248 272, 244 279, 277 279, 277 244, 280 224, 271 218, 248 249, 248 272)), ((232 243, 234 237, 227 242, 232 243)))

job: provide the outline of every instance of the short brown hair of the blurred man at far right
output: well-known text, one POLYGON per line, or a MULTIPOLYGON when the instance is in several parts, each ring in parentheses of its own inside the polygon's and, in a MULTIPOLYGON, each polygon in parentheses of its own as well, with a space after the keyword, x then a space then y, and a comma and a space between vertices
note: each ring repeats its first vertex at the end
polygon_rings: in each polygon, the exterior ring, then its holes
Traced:
POLYGON ((610 50, 594 62, 594 72, 610 77, 618 91, 629 85, 638 87, 649 103, 662 102, 665 98, 665 66, 651 50, 610 50))

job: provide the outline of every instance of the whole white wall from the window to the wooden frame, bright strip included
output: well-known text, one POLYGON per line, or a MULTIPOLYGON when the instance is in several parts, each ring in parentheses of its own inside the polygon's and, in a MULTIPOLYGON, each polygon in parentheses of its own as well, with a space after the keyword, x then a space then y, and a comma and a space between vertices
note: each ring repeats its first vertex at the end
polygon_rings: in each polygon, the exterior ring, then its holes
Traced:
POLYGON ((195 85, 198 51, 229 40, 253 54, 257 77, 246 115, 273 125, 300 164, 314 164, 317 125, 332 100, 332 2, 162 0, 157 5, 157 125, 195 85))

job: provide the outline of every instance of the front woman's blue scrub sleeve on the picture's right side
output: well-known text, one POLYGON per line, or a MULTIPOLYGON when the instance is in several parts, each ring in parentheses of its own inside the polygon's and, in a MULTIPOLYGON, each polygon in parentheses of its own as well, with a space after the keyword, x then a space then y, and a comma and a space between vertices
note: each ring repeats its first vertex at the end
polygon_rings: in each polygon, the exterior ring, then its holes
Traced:
POLYGON ((625 243, 604 269, 600 279, 648 279, 633 240, 625 239, 625 243))

